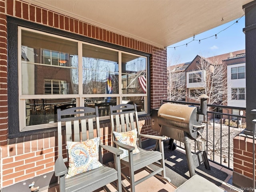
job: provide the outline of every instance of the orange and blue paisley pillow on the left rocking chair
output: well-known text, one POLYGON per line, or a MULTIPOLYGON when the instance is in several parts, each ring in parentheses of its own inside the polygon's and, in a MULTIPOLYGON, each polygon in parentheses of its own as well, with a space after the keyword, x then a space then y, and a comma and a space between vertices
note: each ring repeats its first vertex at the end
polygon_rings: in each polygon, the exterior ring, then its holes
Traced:
POLYGON ((66 178, 102 166, 99 162, 99 142, 99 137, 82 142, 67 141, 69 167, 66 178))

